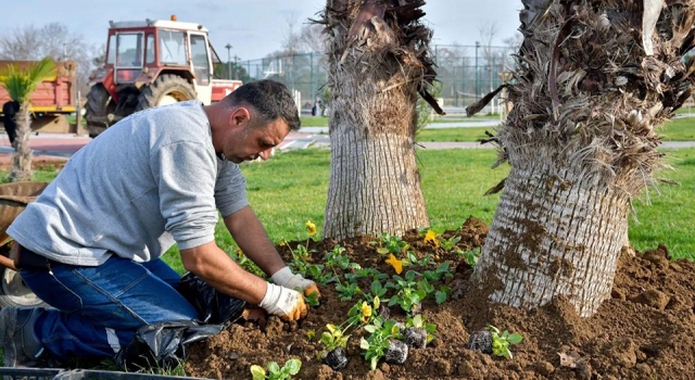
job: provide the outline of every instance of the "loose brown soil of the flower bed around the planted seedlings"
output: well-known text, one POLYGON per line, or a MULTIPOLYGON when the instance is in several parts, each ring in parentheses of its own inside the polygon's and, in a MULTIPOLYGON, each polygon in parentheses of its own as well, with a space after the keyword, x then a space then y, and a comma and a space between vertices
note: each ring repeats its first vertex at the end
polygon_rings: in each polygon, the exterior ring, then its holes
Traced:
MULTIPOLYGON (((473 217, 444 237, 459 236, 458 249, 467 251, 484 242, 488 227, 473 217)), ((317 359, 321 347, 309 342, 326 324, 339 324, 355 303, 341 302, 333 284, 320 287, 321 304, 301 322, 283 324, 269 317, 265 328, 252 321, 233 324, 222 333, 194 343, 186 362, 188 376, 215 379, 249 379, 249 367, 269 362, 282 365, 302 360, 299 379, 693 379, 695 378, 695 264, 671 262, 667 248, 621 255, 612 297, 593 317, 582 319, 564 299, 544 307, 521 311, 491 304, 469 291, 471 268, 458 255, 424 243, 417 231, 404 238, 419 256, 434 255, 439 263, 456 267, 447 284, 454 290, 438 305, 432 296, 422 303, 422 315, 438 326, 437 338, 424 350, 410 350, 405 365, 380 362, 369 371, 361 356, 359 335, 348 343, 349 365, 333 371, 317 359), (492 324, 523 335, 510 349, 514 358, 468 350, 470 333, 492 324)), ((361 237, 341 243, 353 262, 393 274, 386 257, 370 245, 375 238, 361 237)), ((300 242, 291 243, 296 245, 300 242)), ((304 242, 301 242, 304 243, 304 242)), ((334 241, 312 243, 312 258, 320 263, 334 241)), ((287 246, 278 250, 289 259, 287 246)), ((416 269, 417 267, 408 267, 416 269)), ((428 268, 428 269, 433 269, 428 268)), ((439 284, 437 286, 439 288, 439 284)), ((361 284, 362 289, 368 289, 361 284)), ((399 306, 391 318, 405 320, 399 306)))

